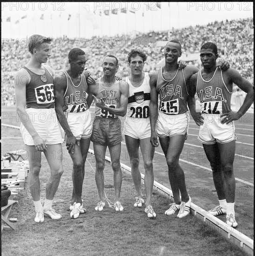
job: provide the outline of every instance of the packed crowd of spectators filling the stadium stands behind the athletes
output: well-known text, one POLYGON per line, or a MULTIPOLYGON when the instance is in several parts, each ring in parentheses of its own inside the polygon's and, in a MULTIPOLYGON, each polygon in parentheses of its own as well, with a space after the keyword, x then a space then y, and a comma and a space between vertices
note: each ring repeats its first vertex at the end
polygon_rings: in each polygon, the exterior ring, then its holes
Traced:
MULTIPOLYGON (((163 57, 163 47, 158 46, 159 41, 171 39, 179 40, 182 44, 183 54, 199 53, 200 47, 207 41, 214 42, 219 49, 220 59, 229 61, 230 66, 236 68, 243 77, 253 81, 253 19, 215 21, 204 26, 186 27, 170 31, 123 34, 114 38, 96 37, 91 39, 63 38, 53 40, 51 58, 47 62, 57 74, 68 67, 67 53, 74 47, 85 50, 87 56, 86 66, 92 74, 101 76, 102 58, 107 54, 114 54, 119 59, 117 74, 127 76, 130 70, 127 65, 127 54, 132 48, 139 48, 148 55, 144 71, 153 72, 158 69, 163 57)), ((2 105, 14 105, 14 85, 12 79, 15 72, 24 66, 30 54, 27 50, 27 39, 20 41, 5 41, 2 39, 1 49, 1 99, 2 105)), ((199 60, 188 64, 201 67, 199 60)))

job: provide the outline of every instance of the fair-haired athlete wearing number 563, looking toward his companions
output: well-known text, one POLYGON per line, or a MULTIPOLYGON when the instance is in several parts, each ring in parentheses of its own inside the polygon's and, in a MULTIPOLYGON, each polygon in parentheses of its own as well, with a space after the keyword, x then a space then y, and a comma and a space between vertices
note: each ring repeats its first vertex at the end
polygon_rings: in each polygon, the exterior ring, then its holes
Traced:
POLYGON ((20 132, 28 152, 28 184, 35 206, 35 222, 43 222, 44 215, 52 219, 61 218, 52 209, 52 203, 63 173, 62 138, 54 109, 53 70, 42 65, 51 56, 51 41, 52 39, 39 34, 29 37, 28 50, 31 58, 17 72, 15 84, 16 110, 21 121, 20 132), (41 152, 44 152, 50 167, 44 207, 40 202, 41 152))

